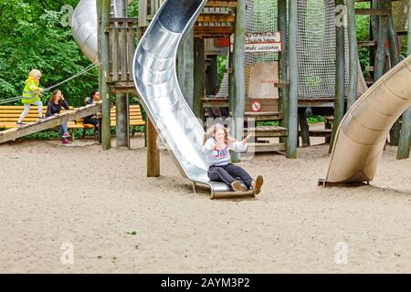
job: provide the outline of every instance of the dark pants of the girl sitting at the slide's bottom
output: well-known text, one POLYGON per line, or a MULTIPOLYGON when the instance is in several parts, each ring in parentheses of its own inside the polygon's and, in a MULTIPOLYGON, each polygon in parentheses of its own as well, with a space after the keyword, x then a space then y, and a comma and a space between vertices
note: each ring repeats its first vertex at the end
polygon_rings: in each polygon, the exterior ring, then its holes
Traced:
POLYGON ((241 167, 228 163, 223 166, 210 166, 208 169, 208 178, 214 182, 224 182, 231 184, 235 181, 242 180, 249 188, 253 179, 241 167))

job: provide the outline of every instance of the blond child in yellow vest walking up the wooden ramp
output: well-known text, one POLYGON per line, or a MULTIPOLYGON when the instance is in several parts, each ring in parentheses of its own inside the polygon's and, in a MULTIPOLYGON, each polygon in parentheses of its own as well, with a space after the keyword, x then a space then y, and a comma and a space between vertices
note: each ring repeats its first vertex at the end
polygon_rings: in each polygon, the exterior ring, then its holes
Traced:
POLYGON ((37 69, 31 70, 30 73, 28 74, 28 78, 26 79, 26 86, 25 86, 25 89, 23 89, 23 96, 22 96, 22 101, 23 101, 25 108, 23 112, 21 113, 20 118, 18 118, 17 120, 18 126, 23 125, 23 119, 25 119, 28 111, 30 110, 31 105, 37 106, 38 118, 40 120, 46 119, 43 116, 43 103, 40 100, 40 97, 44 89, 40 89, 38 87, 40 78, 41 78, 41 72, 38 71, 37 69))

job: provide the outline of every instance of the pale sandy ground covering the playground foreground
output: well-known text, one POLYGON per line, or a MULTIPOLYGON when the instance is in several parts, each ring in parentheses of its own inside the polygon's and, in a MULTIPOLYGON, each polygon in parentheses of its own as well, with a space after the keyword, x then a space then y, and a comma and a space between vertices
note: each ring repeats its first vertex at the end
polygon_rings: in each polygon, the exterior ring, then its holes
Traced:
POLYGON ((132 148, 0 145, 0 272, 411 272, 411 161, 393 147, 371 186, 327 189, 328 146, 258 154, 241 165, 263 192, 221 200, 193 193, 166 151, 146 178, 141 137, 132 148))

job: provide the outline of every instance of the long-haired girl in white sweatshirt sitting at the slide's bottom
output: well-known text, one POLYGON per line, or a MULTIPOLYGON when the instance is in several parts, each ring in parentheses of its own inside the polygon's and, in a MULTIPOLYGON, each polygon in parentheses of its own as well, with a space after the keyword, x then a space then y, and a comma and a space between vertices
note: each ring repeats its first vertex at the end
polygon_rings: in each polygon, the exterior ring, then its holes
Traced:
POLYGON ((230 150, 247 151, 249 136, 243 141, 237 142, 228 136, 227 129, 221 124, 213 125, 206 133, 203 152, 207 155, 209 163, 208 178, 211 181, 224 182, 231 186, 234 191, 254 190, 255 194, 261 192, 263 178, 258 175, 256 180, 238 165, 231 163, 230 150), (239 178, 246 184, 245 188, 237 181, 239 178))

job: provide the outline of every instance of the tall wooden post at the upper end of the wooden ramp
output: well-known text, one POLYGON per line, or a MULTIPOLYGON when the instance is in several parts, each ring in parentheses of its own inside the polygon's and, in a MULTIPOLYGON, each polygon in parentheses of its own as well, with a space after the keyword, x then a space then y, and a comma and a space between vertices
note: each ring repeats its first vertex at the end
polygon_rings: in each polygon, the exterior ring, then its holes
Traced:
MULTIPOLYGON (((97 1, 99 2, 99 1, 97 1)), ((107 84, 107 78, 110 68, 110 43, 109 43, 109 33, 107 28, 110 26, 110 11, 111 11, 111 1, 101 0, 101 89, 100 98, 103 102, 102 107, 102 149, 111 149, 111 129, 110 129, 110 91, 107 84)))

